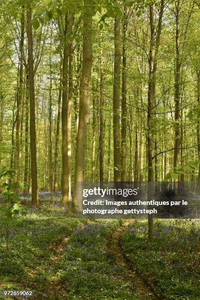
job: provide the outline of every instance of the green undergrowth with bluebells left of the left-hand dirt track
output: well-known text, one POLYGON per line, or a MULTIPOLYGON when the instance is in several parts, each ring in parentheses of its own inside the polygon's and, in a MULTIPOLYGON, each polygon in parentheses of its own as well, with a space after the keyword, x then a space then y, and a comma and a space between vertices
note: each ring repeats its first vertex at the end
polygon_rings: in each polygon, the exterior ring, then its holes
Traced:
POLYGON ((28 208, 24 222, 10 231, 9 247, 6 243, 3 225, 0 227, 0 289, 37 287, 35 273, 40 273, 40 266, 47 264, 53 255, 53 247, 59 245, 65 235, 84 224, 86 220, 68 217, 66 211, 55 205, 28 208), (15 238, 24 234, 28 242, 15 238), (33 276, 34 275, 34 276, 33 276))

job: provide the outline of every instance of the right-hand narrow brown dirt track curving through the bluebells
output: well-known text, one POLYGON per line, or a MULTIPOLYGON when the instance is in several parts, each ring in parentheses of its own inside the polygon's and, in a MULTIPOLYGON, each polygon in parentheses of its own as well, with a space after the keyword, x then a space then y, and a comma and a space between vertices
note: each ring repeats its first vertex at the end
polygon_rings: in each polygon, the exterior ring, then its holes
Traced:
POLYGON ((109 250, 111 251, 112 255, 115 256, 117 265, 123 267, 123 277, 125 278, 125 280, 128 280, 131 283, 132 290, 134 292, 137 291, 137 293, 143 300, 159 300, 161 298, 153 293, 153 291, 146 284, 143 278, 136 272, 131 270, 131 268, 128 266, 128 258, 125 256, 124 251, 120 247, 120 234, 124 230, 125 226, 127 226, 130 222, 131 221, 129 220, 125 221, 125 223, 121 227, 118 227, 114 231, 112 235, 112 241, 109 245, 109 250))

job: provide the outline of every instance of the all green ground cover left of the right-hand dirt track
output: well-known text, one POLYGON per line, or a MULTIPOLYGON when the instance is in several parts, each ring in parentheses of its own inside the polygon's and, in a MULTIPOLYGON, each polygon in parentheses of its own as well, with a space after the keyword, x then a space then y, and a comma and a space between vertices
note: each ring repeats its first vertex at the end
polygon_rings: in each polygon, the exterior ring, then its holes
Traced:
MULTIPOLYGON (((28 206, 29 200, 24 202, 28 206)), ((38 208, 28 206, 24 222, 10 232, 7 252, 1 227, 0 289, 31 289, 34 299, 136 300, 121 277, 122 269, 107 251, 110 235, 120 222, 87 224, 88 220, 68 216, 59 207, 59 199, 53 205, 49 198, 43 203, 38 208), (28 236, 29 242, 17 240, 16 233, 28 236), (57 259, 51 260, 67 235, 71 235, 70 241, 57 259)))

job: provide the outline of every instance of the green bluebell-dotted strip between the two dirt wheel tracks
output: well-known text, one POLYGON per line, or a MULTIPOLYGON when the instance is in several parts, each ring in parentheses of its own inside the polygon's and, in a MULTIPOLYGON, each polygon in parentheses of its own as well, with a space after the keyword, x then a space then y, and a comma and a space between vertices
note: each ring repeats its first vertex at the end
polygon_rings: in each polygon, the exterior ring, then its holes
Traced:
POLYGON ((137 299, 107 250, 113 229, 119 225, 119 221, 98 220, 76 228, 60 260, 54 263, 59 282, 67 284, 66 299, 137 299))

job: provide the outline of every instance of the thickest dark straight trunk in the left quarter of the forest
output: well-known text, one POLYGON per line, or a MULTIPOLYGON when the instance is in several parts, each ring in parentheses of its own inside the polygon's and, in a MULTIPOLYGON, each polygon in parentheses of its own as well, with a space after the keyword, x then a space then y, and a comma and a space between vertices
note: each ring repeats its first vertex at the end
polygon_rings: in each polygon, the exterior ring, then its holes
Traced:
POLYGON ((31 25, 30 1, 27 5, 27 41, 28 41, 28 79, 29 79, 29 101, 30 101, 30 153, 31 153, 31 182, 32 182, 32 204, 39 205, 37 184, 37 157, 36 157, 36 130, 35 130, 35 90, 33 69, 33 37, 31 25))

